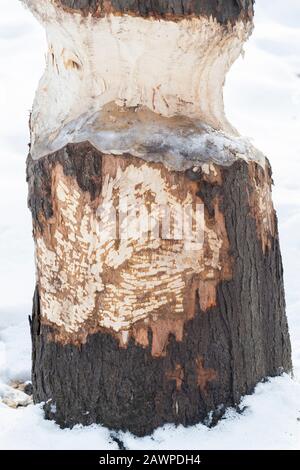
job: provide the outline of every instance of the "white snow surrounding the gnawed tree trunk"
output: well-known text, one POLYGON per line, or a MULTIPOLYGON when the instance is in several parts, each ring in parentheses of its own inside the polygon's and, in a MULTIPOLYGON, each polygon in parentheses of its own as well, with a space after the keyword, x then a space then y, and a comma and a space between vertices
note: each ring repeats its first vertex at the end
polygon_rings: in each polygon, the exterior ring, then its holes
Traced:
MULTIPOLYGON (((18 0, 0 0, 0 448, 115 449, 100 426, 61 430, 38 406, 12 409, 8 386, 30 379, 28 315, 34 288, 26 207, 27 121, 44 67, 42 29, 18 0)), ((227 79, 227 115, 271 160, 279 215, 294 379, 259 384, 243 414, 208 429, 167 426, 152 437, 122 435, 129 449, 300 448, 300 2, 257 0, 256 29, 227 79)))

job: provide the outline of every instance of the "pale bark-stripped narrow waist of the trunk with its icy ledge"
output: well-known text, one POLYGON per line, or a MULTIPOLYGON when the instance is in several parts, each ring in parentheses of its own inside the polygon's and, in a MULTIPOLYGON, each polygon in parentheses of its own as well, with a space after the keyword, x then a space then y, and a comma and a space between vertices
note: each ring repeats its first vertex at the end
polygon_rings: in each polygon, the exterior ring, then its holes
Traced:
POLYGON ((49 45, 31 116, 33 158, 88 140, 101 152, 176 170, 206 160, 263 159, 237 136, 223 106, 225 76, 251 32, 251 16, 157 21, 24 2, 49 45))

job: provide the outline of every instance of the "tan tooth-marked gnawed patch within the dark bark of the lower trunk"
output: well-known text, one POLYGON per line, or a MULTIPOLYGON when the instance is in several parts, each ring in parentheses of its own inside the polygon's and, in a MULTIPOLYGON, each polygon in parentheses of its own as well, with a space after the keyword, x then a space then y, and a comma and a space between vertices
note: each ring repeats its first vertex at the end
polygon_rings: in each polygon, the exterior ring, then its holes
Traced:
MULTIPOLYGON (((93 155, 86 144, 79 149, 83 160, 85 152, 93 155)), ((202 204, 197 196, 201 180, 170 173, 162 164, 96 153, 99 162, 94 161, 94 166, 99 170, 101 165, 99 173, 105 175, 102 179, 97 176, 98 182, 102 181, 99 192, 91 185, 94 168, 90 179, 84 180, 84 185, 81 181, 80 186, 72 172, 66 171, 74 167, 73 156, 71 147, 49 156, 49 160, 29 162, 29 174, 36 175, 32 165, 42 172, 50 169, 52 180, 51 185, 39 185, 41 191, 35 190, 34 197, 29 196, 36 217, 42 321, 58 328, 55 341, 82 344, 92 332, 105 329, 122 347, 127 347, 132 337, 144 348, 150 341, 154 357, 164 356, 170 335, 182 341, 184 325, 195 314, 195 299, 203 311, 213 308, 219 282, 231 279, 219 197, 212 201, 213 216, 205 209, 201 220, 195 219, 196 212, 192 214, 194 241, 184 236, 161 238, 157 220, 160 223, 162 216, 155 219, 157 208, 167 206, 171 214, 178 208, 195 211, 196 204, 202 204), (44 211, 45 191, 49 191, 51 211, 48 207, 44 211), (97 197, 92 199, 91 194, 97 197), (147 217, 135 216, 131 230, 142 228, 141 236, 132 233, 116 238, 112 211, 117 209, 120 221, 124 216, 122 201, 131 214, 144 204, 154 231, 149 232, 150 226, 145 225, 147 217), (199 242, 197 233, 203 228, 203 242, 199 242)), ((79 167, 84 169, 84 164, 79 167)), ((41 176, 41 182, 44 180, 46 175, 41 176)), ((34 187, 32 176, 29 183, 34 187)), ((174 224, 171 219, 171 234, 174 224)))

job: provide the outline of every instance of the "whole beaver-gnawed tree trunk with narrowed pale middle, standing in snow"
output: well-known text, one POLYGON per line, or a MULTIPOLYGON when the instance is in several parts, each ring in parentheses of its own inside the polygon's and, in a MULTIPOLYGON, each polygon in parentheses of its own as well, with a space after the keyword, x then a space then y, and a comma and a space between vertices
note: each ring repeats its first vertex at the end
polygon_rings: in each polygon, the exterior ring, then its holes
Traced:
POLYGON ((253 2, 25 3, 49 41, 28 158, 34 399, 62 426, 137 435, 217 419, 292 367, 270 166, 222 103, 253 2), (203 240, 111 238, 112 209, 119 233, 140 203, 203 205, 203 240))

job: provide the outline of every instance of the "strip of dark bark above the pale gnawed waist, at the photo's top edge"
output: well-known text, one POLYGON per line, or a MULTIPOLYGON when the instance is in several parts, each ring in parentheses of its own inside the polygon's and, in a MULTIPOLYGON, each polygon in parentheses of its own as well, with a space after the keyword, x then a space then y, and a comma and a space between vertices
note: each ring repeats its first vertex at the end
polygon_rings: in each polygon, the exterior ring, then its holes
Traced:
POLYGON ((212 16, 220 23, 252 18, 254 0, 56 0, 63 7, 93 13, 133 14, 158 18, 212 16))

